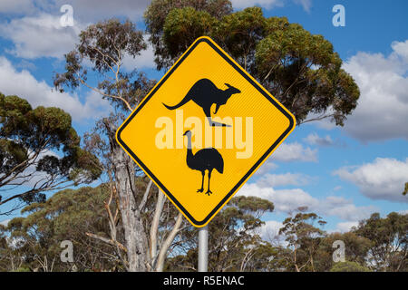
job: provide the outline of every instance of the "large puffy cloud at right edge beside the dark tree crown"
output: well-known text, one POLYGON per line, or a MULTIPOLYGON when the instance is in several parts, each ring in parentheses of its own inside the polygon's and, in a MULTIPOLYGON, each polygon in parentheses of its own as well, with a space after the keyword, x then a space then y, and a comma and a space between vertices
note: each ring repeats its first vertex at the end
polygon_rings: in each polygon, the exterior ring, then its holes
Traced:
POLYGON ((358 140, 408 139, 408 40, 393 52, 357 53, 344 64, 358 84, 358 105, 345 131, 358 140))

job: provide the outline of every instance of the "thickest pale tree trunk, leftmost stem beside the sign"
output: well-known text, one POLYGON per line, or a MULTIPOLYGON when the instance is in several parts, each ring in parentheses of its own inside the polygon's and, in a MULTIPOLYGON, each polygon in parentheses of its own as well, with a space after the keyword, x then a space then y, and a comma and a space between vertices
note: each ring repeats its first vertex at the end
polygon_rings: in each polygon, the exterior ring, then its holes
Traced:
POLYGON ((142 272, 147 270, 148 238, 143 226, 141 211, 135 199, 139 192, 137 192, 134 185, 134 164, 128 154, 116 142, 114 137, 116 128, 112 127, 112 124, 109 124, 109 139, 115 186, 119 197, 121 221, 124 230, 124 246, 128 250, 128 267, 131 272, 142 272))

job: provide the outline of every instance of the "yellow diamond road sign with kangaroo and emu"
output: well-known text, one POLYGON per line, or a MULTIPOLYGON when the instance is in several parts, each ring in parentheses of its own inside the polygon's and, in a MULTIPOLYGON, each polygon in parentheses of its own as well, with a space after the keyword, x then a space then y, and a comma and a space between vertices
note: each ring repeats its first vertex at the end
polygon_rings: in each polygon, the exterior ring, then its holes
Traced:
POLYGON ((295 128, 282 104, 200 37, 118 129, 121 147, 203 227, 295 128))

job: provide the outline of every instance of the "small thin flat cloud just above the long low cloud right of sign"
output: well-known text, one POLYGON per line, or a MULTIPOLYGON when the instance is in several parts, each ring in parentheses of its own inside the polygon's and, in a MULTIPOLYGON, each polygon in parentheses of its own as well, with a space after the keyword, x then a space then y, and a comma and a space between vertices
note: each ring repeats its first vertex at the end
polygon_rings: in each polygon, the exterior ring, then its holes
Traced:
POLYGON ((257 179, 257 185, 261 188, 281 187, 287 185, 305 185, 311 178, 301 173, 270 174, 267 173, 257 179))

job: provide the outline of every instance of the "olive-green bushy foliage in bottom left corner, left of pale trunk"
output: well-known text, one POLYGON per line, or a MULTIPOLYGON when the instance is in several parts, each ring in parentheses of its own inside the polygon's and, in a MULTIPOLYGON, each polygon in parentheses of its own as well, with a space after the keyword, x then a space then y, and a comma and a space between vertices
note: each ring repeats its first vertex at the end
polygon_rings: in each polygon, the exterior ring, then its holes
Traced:
POLYGON ((70 271, 73 265, 78 271, 121 270, 115 248, 86 235, 109 237, 104 208, 109 192, 107 185, 65 189, 25 207, 28 216, 13 218, 6 227, 9 243, 0 243, 0 271, 70 271), (60 259, 63 240, 73 242, 73 263, 60 259))

